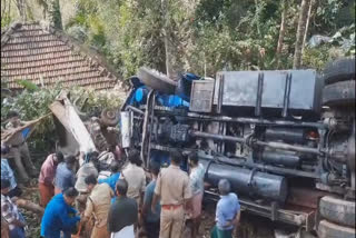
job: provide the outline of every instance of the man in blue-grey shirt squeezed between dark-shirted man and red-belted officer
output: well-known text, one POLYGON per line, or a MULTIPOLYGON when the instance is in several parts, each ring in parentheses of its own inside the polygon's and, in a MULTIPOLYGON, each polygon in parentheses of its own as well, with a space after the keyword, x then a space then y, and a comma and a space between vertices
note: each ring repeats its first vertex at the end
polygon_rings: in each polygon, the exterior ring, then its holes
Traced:
POLYGON ((148 238, 159 237, 160 229, 160 205, 156 205, 156 214, 151 210, 151 204, 155 195, 157 176, 160 170, 160 165, 158 162, 150 162, 150 172, 152 175, 152 180, 148 184, 145 191, 142 212, 140 215, 140 221, 144 222, 145 230, 148 238))

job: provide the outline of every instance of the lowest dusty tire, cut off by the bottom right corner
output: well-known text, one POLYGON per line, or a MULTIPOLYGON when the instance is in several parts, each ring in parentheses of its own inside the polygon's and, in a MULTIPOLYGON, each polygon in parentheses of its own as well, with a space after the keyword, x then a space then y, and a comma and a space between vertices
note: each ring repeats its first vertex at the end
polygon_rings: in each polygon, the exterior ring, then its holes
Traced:
POLYGON ((319 238, 355 238, 355 228, 343 227, 327 220, 322 220, 317 230, 319 238))

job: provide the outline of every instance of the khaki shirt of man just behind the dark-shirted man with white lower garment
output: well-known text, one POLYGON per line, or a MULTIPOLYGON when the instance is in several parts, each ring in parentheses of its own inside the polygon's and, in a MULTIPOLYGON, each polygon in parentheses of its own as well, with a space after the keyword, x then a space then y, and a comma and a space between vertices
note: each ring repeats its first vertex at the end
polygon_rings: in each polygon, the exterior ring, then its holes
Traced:
POLYGON ((146 189, 146 175, 141 167, 129 163, 122 171, 121 178, 129 185, 127 189, 127 197, 134 198, 137 206, 140 205, 140 194, 146 189))

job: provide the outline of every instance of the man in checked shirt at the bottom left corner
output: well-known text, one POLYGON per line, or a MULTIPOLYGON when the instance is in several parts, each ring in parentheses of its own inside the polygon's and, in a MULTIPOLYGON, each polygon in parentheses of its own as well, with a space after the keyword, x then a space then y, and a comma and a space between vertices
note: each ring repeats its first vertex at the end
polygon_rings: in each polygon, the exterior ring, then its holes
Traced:
POLYGON ((9 224, 10 237, 26 238, 24 219, 19 212, 18 207, 8 196, 9 190, 10 181, 8 179, 1 179, 1 218, 9 224))

